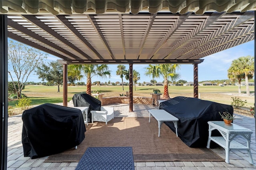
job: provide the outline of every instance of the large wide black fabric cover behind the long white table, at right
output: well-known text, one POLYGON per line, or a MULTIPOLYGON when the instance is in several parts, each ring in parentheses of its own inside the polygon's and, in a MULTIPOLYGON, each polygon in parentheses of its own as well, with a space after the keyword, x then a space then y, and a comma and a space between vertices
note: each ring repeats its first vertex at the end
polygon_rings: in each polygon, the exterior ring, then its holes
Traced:
MULTIPOLYGON (((178 136, 189 147, 206 147, 209 136, 207 122, 223 121, 219 112, 227 111, 233 115, 231 105, 182 96, 161 102, 159 109, 164 109, 179 119, 178 136)), ((172 122, 165 124, 175 132, 172 122)), ((220 136, 215 131, 212 134, 220 136)))

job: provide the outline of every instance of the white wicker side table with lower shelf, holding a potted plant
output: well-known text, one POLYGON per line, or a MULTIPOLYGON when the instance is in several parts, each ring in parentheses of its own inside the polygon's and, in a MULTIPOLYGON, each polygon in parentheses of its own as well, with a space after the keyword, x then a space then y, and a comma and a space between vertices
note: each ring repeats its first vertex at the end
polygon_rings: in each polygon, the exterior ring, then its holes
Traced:
POLYGON ((241 127, 234 123, 231 126, 225 125, 223 121, 209 121, 209 138, 207 148, 210 148, 211 140, 219 144, 226 151, 225 162, 229 164, 229 151, 230 150, 246 150, 250 157, 250 164, 253 164, 252 153, 250 150, 252 130, 241 127), (222 136, 212 136, 212 130, 218 130, 222 136), (240 144, 233 140, 236 136, 241 135, 247 140, 247 146, 240 144))

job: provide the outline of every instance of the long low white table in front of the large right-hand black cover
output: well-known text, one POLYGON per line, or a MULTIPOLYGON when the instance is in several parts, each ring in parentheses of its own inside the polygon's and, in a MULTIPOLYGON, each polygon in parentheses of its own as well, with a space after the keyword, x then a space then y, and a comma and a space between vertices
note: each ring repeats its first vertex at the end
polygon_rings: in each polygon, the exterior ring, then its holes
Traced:
POLYGON ((176 128, 176 136, 178 136, 177 128, 178 128, 178 121, 179 119, 176 118, 175 116, 171 115, 170 113, 166 112, 163 109, 150 109, 148 110, 149 113, 149 121, 150 122, 150 117, 151 115, 158 121, 158 137, 160 137, 160 128, 162 123, 164 122, 170 122, 172 121, 174 123, 174 127, 176 128))

